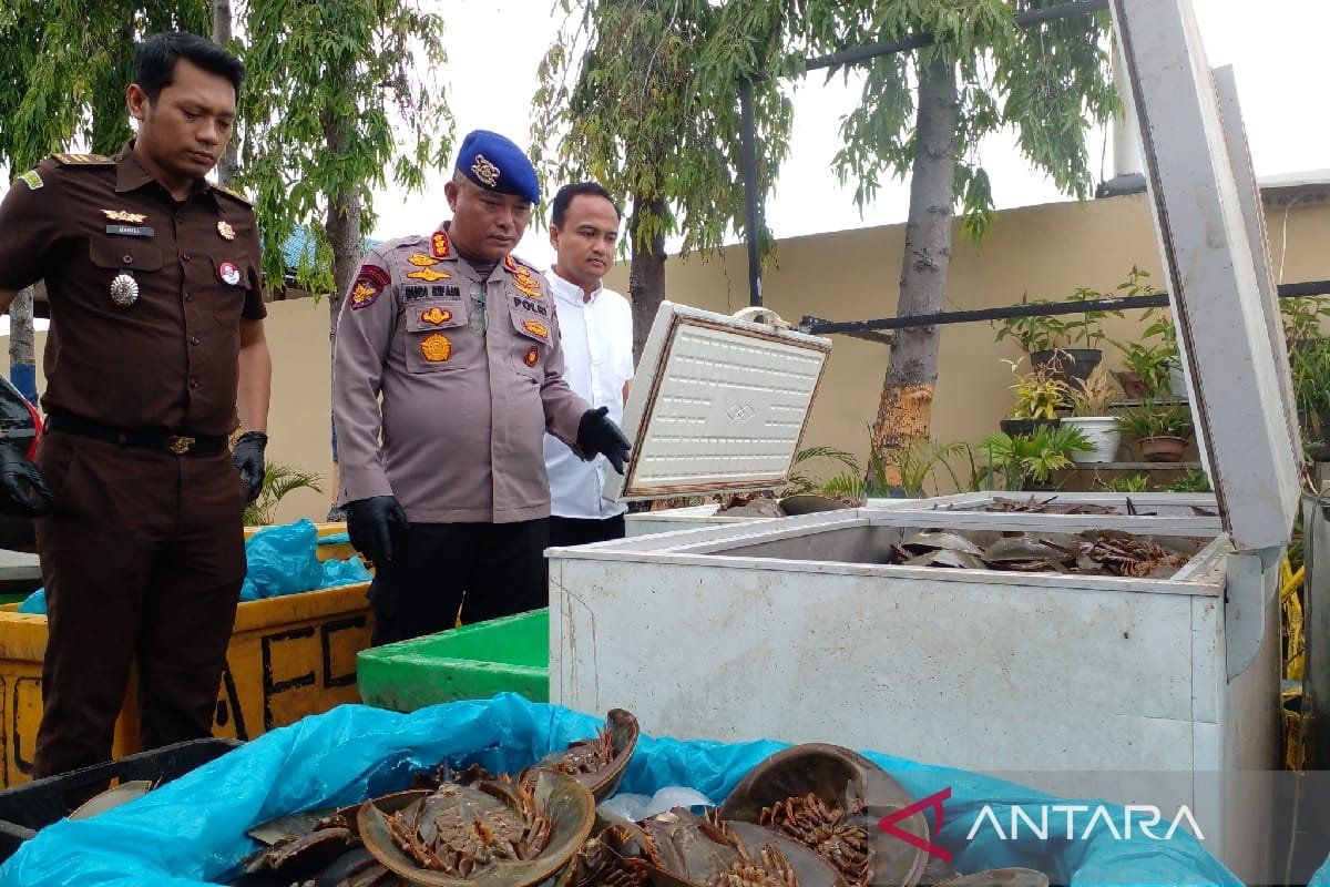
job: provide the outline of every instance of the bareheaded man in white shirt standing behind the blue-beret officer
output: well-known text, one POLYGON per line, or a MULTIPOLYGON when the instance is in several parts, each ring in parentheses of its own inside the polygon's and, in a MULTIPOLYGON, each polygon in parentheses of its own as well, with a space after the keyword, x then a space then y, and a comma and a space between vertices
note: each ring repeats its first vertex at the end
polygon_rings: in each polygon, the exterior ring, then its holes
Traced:
MULTIPOLYGON (((596 182, 565 185, 551 207, 549 243, 557 258, 545 275, 564 350, 564 379, 616 424, 633 378, 633 314, 618 293, 601 286, 614 261, 622 213, 596 182)), ((613 471, 604 456, 583 461, 563 442, 545 435, 549 472, 549 544, 585 545, 624 537, 621 503, 601 497, 613 471)))

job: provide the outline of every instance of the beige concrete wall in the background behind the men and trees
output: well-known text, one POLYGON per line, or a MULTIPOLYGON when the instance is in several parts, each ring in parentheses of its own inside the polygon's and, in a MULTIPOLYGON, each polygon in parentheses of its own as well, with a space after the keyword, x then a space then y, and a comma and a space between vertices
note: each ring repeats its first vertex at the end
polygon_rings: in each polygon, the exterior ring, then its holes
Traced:
MULTIPOLYGON (((1326 249, 1330 206, 1271 210, 1267 223, 1271 263, 1275 274, 1282 263, 1283 282, 1330 279, 1326 249)), ((775 263, 765 275, 766 303, 791 322, 806 314, 830 320, 891 317, 896 310, 903 241, 903 225, 781 241, 775 263)), ((1032 299, 1063 299, 1077 286, 1111 290, 1132 265, 1148 270, 1158 286, 1165 286, 1144 195, 1008 210, 998 217, 982 245, 958 238, 947 307, 1013 305, 1024 294, 1032 299)), ((616 266, 606 283, 626 293, 626 265, 616 266)), ((666 287, 668 298, 674 302, 725 313, 743 307, 747 303, 743 247, 726 249, 709 259, 670 259, 666 287)), ((1130 338, 1138 328, 1133 315, 1138 318, 1140 311, 1111 320, 1109 335, 1130 338)), ((996 428, 1009 408, 1009 372, 1001 359, 1016 359, 1020 351, 1008 342, 996 344, 994 335, 987 323, 943 327, 935 439, 978 442, 996 428)), ((269 305, 267 338, 274 362, 269 459, 319 472, 327 489, 323 495, 309 491, 290 495, 278 509, 278 519, 321 520, 334 491, 327 305, 311 299, 269 305)), ((834 445, 862 459, 867 453, 867 426, 876 415, 888 350, 846 336, 833 340, 830 367, 805 445, 834 445)), ((43 344, 44 336, 39 334, 39 352, 43 344)), ((1112 360, 1113 350, 1108 351, 1112 360)), ((39 375, 39 390, 44 383, 39 375)))

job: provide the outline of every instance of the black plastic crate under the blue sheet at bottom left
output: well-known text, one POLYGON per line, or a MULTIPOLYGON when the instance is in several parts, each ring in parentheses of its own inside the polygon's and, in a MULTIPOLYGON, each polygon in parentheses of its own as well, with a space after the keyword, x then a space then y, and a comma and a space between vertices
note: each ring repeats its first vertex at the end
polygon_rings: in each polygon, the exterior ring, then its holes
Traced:
POLYGON ((0 862, 12 856, 40 828, 68 817, 70 810, 65 795, 73 790, 112 779, 170 782, 239 745, 238 739, 215 738, 177 742, 0 791, 0 862))

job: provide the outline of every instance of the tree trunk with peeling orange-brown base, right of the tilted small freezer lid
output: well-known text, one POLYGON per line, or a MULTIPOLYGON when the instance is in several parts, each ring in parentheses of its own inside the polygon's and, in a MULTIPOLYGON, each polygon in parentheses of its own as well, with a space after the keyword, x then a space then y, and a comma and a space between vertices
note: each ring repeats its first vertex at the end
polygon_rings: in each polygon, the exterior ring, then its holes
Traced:
MULTIPOLYGON (((915 122, 916 153, 910 177, 910 217, 900 261, 896 317, 942 311, 951 266, 951 207, 956 177, 956 70, 935 59, 919 78, 915 122)), ((932 391, 938 382, 935 326, 892 332, 891 359, 882 383, 872 448, 887 465, 887 481, 898 485, 895 456, 911 440, 928 438, 932 391)))

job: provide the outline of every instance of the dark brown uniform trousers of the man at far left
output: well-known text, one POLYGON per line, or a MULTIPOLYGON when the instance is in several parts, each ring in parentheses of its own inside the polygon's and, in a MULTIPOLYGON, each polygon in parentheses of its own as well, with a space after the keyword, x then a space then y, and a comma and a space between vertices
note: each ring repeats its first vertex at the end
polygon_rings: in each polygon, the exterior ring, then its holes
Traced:
POLYGON ((245 493, 230 453, 55 432, 37 467, 57 505, 37 521, 51 640, 33 775, 110 757, 136 660, 142 746, 209 735, 245 578, 245 493))

